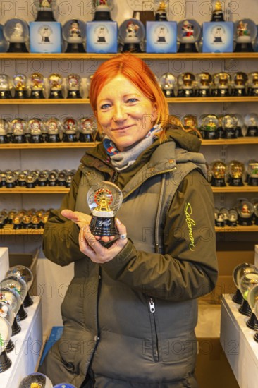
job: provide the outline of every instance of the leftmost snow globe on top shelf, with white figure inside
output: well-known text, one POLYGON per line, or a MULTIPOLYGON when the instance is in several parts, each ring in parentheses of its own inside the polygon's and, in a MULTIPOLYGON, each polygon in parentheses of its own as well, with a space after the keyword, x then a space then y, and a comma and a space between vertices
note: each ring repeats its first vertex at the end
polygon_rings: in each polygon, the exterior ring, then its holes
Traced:
POLYGON ((4 37, 9 42, 8 52, 28 52, 29 27, 25 20, 9 19, 4 25, 4 37))

